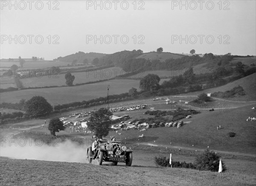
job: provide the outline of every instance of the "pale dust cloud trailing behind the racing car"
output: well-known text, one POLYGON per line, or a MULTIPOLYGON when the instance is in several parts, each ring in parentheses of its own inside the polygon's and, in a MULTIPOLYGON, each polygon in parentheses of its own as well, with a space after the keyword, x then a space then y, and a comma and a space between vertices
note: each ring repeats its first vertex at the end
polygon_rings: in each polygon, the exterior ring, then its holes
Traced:
POLYGON ((42 144, 39 140, 24 138, 15 141, 15 139, 1 138, 0 156, 14 159, 88 163, 87 146, 70 140, 42 144))

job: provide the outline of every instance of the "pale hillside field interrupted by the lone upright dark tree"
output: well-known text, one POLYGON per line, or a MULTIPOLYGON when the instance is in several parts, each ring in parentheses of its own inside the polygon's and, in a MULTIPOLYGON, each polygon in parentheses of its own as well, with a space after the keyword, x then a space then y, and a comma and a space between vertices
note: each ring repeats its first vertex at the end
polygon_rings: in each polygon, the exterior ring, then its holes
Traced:
MULTIPOLYGON (((75 80, 73 84, 79 83, 87 83, 90 81, 99 81, 108 78, 113 78, 115 76, 122 75, 120 73, 125 74, 126 72, 122 71, 121 68, 118 67, 111 67, 108 69, 102 70, 88 70, 87 72, 81 73, 71 73, 75 76, 75 80)), ((65 74, 52 74, 51 76, 42 76, 41 78, 23 78, 20 79, 23 84, 23 87, 45 87, 45 86, 62 86, 67 85, 65 74)))

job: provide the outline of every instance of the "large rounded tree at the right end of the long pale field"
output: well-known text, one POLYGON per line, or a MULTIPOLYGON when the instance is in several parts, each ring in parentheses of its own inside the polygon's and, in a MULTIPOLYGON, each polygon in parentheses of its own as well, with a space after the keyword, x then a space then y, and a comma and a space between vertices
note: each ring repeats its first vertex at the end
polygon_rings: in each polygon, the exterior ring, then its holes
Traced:
POLYGON ((156 74, 148 74, 140 80, 140 88, 142 90, 157 90, 159 88, 160 78, 156 74))

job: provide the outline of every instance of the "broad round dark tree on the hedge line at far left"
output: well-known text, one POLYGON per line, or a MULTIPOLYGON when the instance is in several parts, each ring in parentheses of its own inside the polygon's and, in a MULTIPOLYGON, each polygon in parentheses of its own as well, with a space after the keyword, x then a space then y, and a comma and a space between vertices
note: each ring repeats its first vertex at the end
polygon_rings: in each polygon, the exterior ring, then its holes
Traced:
POLYGON ((26 113, 30 116, 46 115, 52 112, 52 105, 42 96, 33 96, 26 102, 26 113))

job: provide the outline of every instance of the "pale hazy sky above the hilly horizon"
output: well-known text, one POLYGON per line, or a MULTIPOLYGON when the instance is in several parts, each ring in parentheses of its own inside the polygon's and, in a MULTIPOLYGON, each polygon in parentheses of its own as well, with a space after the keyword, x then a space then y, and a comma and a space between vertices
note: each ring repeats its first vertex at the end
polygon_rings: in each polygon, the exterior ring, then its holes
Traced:
POLYGON ((182 3, 1 0, 0 58, 52 60, 79 51, 159 47, 174 53, 256 55, 255 0, 182 3))

